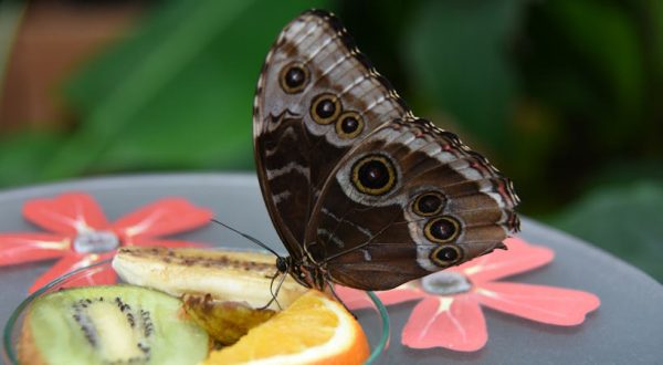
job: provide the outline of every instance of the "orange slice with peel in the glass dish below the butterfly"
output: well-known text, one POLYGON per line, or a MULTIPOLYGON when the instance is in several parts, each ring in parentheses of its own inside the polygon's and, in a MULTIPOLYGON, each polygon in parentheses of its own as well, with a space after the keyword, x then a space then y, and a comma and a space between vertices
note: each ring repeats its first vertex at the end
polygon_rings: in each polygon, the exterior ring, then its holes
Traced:
POLYGON ((234 345, 211 352, 203 364, 361 364, 368 355, 355 317, 311 290, 234 345))

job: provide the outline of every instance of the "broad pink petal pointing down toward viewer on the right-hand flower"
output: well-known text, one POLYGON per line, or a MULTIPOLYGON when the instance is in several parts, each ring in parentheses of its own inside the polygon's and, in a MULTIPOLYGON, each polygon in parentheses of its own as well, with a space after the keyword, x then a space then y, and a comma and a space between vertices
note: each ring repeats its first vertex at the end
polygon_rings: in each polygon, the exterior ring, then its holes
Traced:
POLYGON ((477 351, 487 340, 481 307, 469 294, 424 299, 414 306, 401 336, 403 345, 409 347, 462 352, 477 351))

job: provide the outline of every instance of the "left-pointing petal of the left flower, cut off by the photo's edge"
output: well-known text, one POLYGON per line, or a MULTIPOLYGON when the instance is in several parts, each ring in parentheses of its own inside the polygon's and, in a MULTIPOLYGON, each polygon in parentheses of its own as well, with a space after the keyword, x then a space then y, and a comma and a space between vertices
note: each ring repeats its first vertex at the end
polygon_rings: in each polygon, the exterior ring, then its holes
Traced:
POLYGON ((0 267, 63 257, 70 252, 71 240, 49 233, 0 234, 0 267))

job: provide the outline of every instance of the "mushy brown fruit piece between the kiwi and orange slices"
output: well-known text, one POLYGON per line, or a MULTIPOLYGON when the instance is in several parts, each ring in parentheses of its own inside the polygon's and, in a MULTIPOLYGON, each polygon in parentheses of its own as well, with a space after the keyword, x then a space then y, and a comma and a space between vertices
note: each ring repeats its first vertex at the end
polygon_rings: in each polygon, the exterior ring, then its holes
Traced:
POLYGON ((267 309, 251 307, 243 302, 218 301, 209 294, 186 294, 182 301, 187 314, 222 345, 238 342, 249 330, 275 313, 267 309))

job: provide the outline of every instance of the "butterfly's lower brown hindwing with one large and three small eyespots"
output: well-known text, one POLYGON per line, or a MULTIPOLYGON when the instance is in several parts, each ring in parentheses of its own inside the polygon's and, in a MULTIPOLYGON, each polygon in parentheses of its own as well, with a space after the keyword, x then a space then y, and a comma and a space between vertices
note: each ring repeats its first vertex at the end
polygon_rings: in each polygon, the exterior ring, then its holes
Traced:
POLYGON ((511 180, 454 134, 396 119, 332 171, 305 248, 333 281, 387 290, 504 248, 517 204, 511 180))

